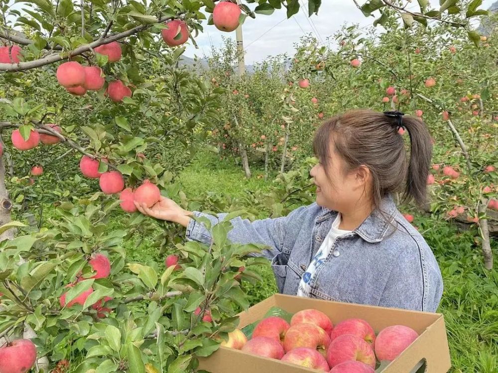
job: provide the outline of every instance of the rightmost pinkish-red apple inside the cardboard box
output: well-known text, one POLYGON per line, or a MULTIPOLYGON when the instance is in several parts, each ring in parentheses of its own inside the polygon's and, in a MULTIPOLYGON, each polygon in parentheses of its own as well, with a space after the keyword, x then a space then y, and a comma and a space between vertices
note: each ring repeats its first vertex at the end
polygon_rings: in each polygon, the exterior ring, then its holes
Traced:
POLYGON ((404 325, 392 325, 382 329, 375 340, 375 355, 379 361, 393 361, 411 343, 418 333, 404 325))

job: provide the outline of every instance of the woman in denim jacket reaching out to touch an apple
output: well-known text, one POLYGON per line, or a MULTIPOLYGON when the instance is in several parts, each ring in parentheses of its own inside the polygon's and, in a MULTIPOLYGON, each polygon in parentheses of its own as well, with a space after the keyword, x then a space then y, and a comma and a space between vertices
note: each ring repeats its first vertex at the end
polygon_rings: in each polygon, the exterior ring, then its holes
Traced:
MULTIPOLYGON (((429 131, 397 111, 353 110, 325 121, 313 140, 319 164, 310 175, 316 203, 284 217, 250 222, 238 217, 229 239, 261 243, 280 292, 328 300, 436 311, 443 281, 434 255, 397 210, 392 193, 425 201, 432 156, 429 131), (403 137, 407 130, 409 160, 403 137)), ((162 197, 152 217, 182 224, 186 238, 209 243, 209 231, 190 212, 162 197)))

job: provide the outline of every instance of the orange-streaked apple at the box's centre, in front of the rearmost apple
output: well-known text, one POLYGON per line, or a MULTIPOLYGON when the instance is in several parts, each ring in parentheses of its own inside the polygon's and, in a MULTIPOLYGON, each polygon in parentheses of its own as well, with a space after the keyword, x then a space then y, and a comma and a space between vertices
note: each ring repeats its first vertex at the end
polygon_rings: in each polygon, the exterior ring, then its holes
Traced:
POLYGON ((283 347, 285 352, 289 352, 298 347, 308 347, 318 350, 326 356, 327 348, 330 344, 329 335, 315 324, 300 323, 291 325, 285 333, 283 347))

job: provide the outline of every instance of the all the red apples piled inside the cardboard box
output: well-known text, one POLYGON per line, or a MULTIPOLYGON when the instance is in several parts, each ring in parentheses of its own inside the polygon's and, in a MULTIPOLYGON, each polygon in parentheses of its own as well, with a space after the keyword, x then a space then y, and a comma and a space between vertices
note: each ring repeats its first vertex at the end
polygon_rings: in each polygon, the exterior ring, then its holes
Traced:
POLYGON ((372 326, 358 318, 334 327, 325 313, 305 309, 295 313, 290 324, 277 316, 261 320, 250 340, 235 329, 221 346, 323 372, 373 373, 376 360, 396 359, 417 337, 403 325, 388 326, 375 335, 372 326))

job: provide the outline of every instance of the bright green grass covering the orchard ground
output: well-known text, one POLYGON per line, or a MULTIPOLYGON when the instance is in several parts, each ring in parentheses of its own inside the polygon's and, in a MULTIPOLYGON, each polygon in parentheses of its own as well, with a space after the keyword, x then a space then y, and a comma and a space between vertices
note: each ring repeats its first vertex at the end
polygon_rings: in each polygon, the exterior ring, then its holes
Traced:
MULTIPOLYGON (((254 168, 254 175, 263 174, 254 168)), ((179 176, 182 189, 189 198, 213 192, 242 199, 248 190, 268 191, 277 175, 246 180, 244 172, 233 160, 220 160, 219 156, 202 152, 193 159, 179 176)), ((53 211, 44 206, 44 219, 53 211)), ((124 228, 125 214, 117 211, 111 218, 110 228, 124 228)), ((265 218, 261 214, 258 218, 265 218)), ((444 293, 438 312, 444 314, 450 344, 452 369, 450 372, 496 373, 498 371, 498 273, 487 271, 482 265, 480 247, 474 243, 478 234, 473 228, 460 232, 445 220, 436 220, 423 214, 414 216, 414 223, 434 251, 444 280, 444 293)), ((493 251, 498 244, 492 240, 493 251)), ((151 238, 135 235, 125 244, 128 260, 164 263, 165 255, 159 254, 151 238), (136 246, 137 245, 137 246, 136 246)), ((271 268, 258 269, 264 283, 244 283, 251 305, 277 292, 271 268)))

